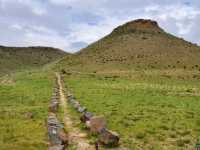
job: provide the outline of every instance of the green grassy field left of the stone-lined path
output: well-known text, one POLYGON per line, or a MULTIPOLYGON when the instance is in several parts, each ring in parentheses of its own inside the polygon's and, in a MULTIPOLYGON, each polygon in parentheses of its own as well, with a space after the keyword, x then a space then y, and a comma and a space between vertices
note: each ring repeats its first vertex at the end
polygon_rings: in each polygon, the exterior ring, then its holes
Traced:
POLYGON ((45 119, 52 79, 39 71, 0 78, 0 150, 47 148, 45 119))

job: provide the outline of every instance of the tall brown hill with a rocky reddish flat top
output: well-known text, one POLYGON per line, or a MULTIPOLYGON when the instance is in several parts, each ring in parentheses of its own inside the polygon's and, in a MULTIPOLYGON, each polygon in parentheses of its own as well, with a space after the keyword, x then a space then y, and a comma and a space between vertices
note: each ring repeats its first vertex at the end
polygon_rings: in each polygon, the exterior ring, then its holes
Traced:
MULTIPOLYGON (((71 57, 71 56, 70 56, 71 57)), ((66 68, 200 69, 200 47, 166 33, 156 21, 138 19, 113 32, 60 64, 66 68)))

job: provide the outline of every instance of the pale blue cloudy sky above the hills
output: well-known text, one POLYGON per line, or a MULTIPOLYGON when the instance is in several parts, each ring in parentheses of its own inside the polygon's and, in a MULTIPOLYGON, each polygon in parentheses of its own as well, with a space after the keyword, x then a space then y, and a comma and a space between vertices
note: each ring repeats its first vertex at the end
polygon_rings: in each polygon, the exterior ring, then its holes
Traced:
POLYGON ((200 44, 200 0, 0 0, 0 45, 77 52, 139 18, 200 44))

